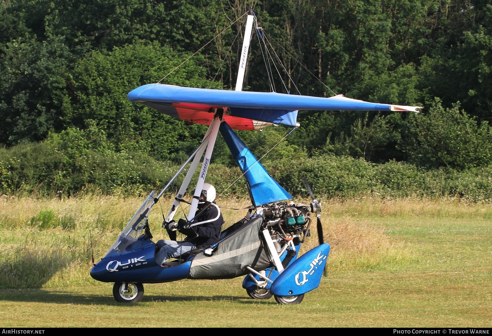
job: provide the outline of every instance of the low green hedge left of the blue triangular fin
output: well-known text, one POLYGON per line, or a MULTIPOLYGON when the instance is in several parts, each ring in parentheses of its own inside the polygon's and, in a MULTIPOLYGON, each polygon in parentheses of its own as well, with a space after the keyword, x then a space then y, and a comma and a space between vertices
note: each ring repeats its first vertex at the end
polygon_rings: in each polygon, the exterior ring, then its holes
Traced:
MULTIPOLYGON (((163 187, 179 167, 169 161, 156 161, 145 152, 117 153, 100 130, 69 128, 60 134, 50 134, 44 142, 0 149, 0 191, 60 197, 80 191, 147 194, 151 189, 163 187)), ((181 183, 184 174, 174 184, 181 183)), ((240 176, 240 170, 235 167, 212 164, 208 180, 220 193, 240 176)), ((228 188, 223 196, 246 196, 241 181, 228 188)), ((168 191, 172 192, 173 188, 168 191)))

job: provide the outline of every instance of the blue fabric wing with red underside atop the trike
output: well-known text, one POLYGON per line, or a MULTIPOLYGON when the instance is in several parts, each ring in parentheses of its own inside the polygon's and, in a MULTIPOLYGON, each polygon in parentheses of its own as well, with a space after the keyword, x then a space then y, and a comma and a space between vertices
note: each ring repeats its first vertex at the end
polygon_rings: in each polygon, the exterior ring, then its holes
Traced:
POLYGON ((329 98, 277 92, 248 92, 147 84, 128 99, 188 122, 210 124, 214 108, 225 108, 233 129, 259 129, 271 124, 296 126, 298 110, 413 111, 416 106, 376 104, 336 95, 329 98))

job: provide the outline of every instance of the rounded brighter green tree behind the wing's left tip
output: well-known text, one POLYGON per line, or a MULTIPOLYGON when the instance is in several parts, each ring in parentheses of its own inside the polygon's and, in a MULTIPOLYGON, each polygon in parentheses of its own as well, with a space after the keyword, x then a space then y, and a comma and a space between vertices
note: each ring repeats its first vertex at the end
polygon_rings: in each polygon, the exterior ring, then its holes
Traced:
MULTIPOLYGON (((93 51, 77 62, 73 71, 71 103, 64 109, 67 124, 84 129, 92 120, 106 132, 117 151, 151 150, 161 159, 178 159, 203 136, 204 127, 186 125, 170 116, 138 104, 135 112, 126 94, 140 85, 157 82, 181 63, 178 54, 157 43, 138 42, 113 51, 93 51)), ((186 62, 166 78, 169 84, 207 87, 206 69, 195 60, 186 62)), ((220 85, 215 84, 215 87, 220 85)))

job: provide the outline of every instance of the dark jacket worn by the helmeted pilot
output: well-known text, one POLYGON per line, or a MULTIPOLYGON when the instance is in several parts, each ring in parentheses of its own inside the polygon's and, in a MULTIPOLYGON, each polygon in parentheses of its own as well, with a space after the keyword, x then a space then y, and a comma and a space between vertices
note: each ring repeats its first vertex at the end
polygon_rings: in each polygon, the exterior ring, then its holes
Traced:
MULTIPOLYGON (((198 210, 200 213, 200 210, 198 210)), ((199 214, 194 220, 193 223, 203 222, 205 220, 213 219, 217 216, 217 209, 213 206, 209 206, 207 210, 203 213, 199 214)), ((193 229, 198 234, 196 238, 186 237, 185 241, 193 243, 195 246, 210 246, 218 242, 220 236, 220 229, 222 228, 222 224, 224 224, 224 219, 222 218, 222 214, 219 217, 210 223, 200 224, 197 226, 193 226, 193 229)))

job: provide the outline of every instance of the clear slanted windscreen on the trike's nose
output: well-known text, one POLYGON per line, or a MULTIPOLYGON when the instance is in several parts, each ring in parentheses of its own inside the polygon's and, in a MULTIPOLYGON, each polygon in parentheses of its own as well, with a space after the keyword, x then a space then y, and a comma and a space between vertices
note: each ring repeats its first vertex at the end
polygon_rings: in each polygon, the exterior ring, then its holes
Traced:
POLYGON ((154 197, 155 194, 154 191, 152 191, 133 217, 131 217, 130 221, 123 229, 123 232, 120 234, 115 244, 111 246, 105 257, 113 254, 129 252, 143 247, 142 245, 149 244, 145 241, 139 241, 138 238, 144 234, 147 217, 149 216, 151 207, 154 204, 154 197))

